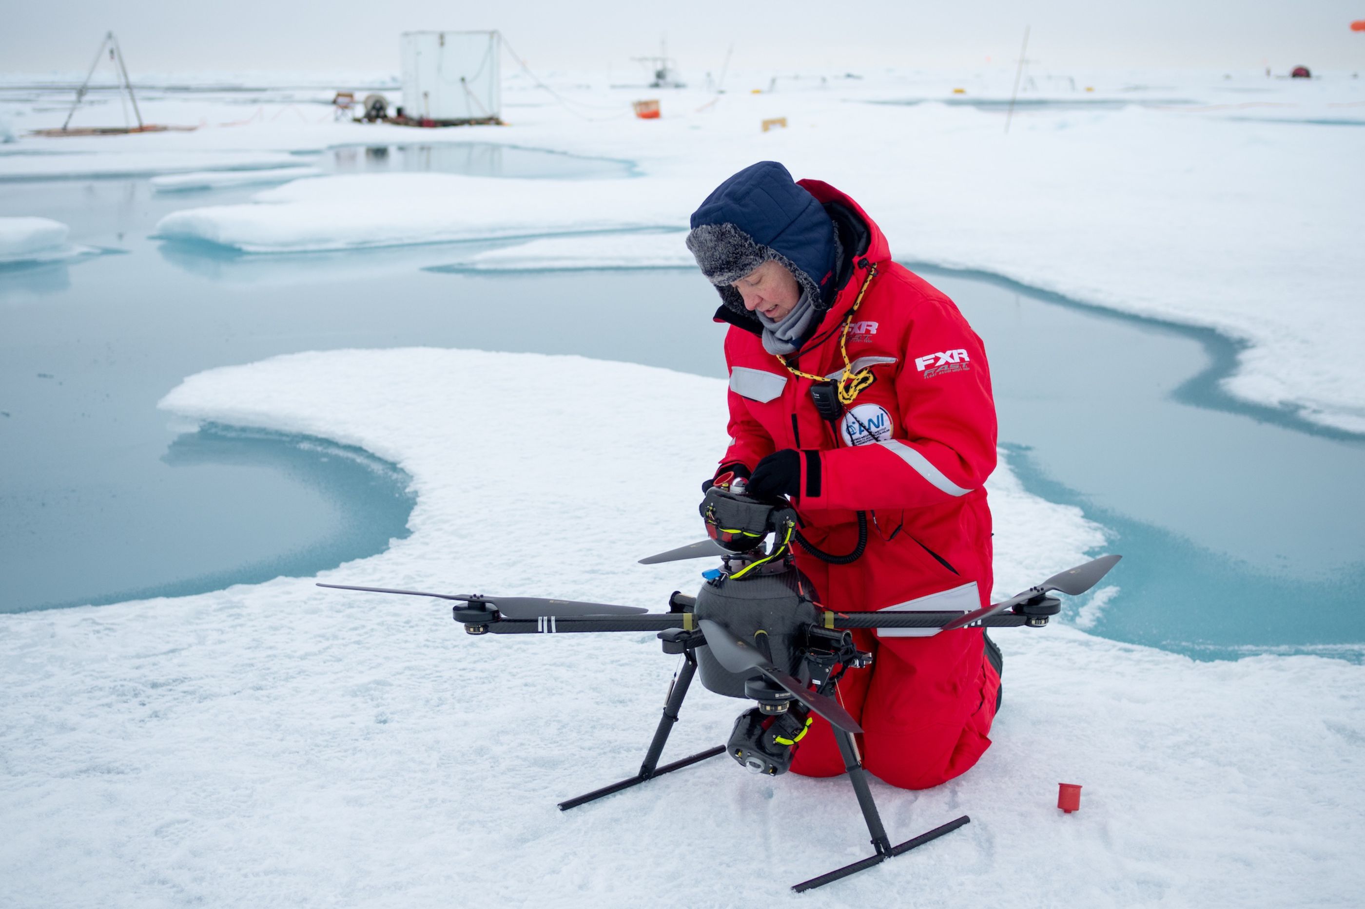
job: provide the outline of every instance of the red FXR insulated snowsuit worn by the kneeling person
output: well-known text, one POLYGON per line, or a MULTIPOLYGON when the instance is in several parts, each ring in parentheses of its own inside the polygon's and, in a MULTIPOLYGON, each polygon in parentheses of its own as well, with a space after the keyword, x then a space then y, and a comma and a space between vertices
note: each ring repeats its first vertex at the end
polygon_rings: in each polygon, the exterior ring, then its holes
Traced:
MULTIPOLYGON (((803 534, 826 553, 850 551, 856 513, 867 512, 868 543, 854 562, 830 565, 796 550, 824 606, 975 609, 991 594, 984 485, 995 468, 996 435, 981 341, 947 296, 891 261, 882 231, 853 199, 819 180, 800 186, 826 209, 860 220, 865 233, 852 251, 845 243, 852 277, 816 333, 786 363, 838 378, 845 364, 841 337, 856 304, 846 355, 853 371, 870 367, 875 378, 842 419, 830 423, 812 403, 814 379, 766 352, 758 333, 732 325, 725 338, 732 441, 721 464, 752 471, 775 450, 800 450, 801 491, 793 504, 803 534)), ((875 652, 874 663, 849 672, 839 693, 865 730, 867 768, 890 783, 921 789, 975 764, 990 745, 999 687, 983 659, 980 629, 932 636, 887 629, 876 637, 859 632, 859 643, 875 652)), ((792 770, 844 773, 823 721, 799 747, 792 770)))

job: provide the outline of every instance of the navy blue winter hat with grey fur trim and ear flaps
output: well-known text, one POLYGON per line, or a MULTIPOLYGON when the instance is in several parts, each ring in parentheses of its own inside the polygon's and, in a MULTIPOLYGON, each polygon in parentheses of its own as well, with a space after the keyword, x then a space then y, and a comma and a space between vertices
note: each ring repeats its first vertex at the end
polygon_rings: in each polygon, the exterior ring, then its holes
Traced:
POLYGON ((774 259, 811 292, 816 308, 834 298, 834 224, 777 161, 759 161, 715 187, 692 213, 687 248, 725 304, 741 314, 748 314, 744 300, 730 285, 774 259))

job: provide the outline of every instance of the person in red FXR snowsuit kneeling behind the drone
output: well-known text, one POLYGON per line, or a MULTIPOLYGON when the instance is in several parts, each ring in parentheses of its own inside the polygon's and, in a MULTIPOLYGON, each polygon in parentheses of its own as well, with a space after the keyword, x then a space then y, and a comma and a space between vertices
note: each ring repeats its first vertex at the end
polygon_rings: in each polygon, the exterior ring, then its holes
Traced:
MULTIPOLYGON (((857 202, 774 161, 717 187, 687 243, 721 293, 715 319, 730 325, 730 446, 704 486, 744 476, 749 494, 788 497, 826 554, 854 550, 861 512, 867 545, 852 562, 797 550, 829 609, 986 605, 995 404, 981 340, 953 302, 891 261, 857 202)), ((1001 703, 984 632, 854 635, 874 661, 839 695, 864 729, 867 770, 924 789, 975 764, 1001 703)), ((792 770, 844 773, 823 719, 792 770)))

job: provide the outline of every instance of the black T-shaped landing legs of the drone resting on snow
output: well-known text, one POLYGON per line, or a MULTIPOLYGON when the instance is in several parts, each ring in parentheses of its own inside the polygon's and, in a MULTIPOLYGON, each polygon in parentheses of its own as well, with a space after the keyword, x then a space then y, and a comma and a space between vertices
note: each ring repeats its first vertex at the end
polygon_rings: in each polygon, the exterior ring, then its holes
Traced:
MULTIPOLYGON (((643 782, 654 779, 655 777, 662 777, 663 774, 672 773, 674 770, 681 770, 684 767, 691 767, 695 763, 700 763, 707 758, 715 758, 717 755, 725 753, 725 745, 717 745, 715 748, 707 748, 706 751, 689 755, 681 760, 674 760, 670 764, 659 766, 659 755, 663 753, 663 745, 669 740, 669 733, 673 732, 673 723, 678 721, 678 711, 682 707, 682 699, 687 697, 687 689, 692 684, 692 677, 696 674, 696 647, 702 646, 704 640, 700 635, 693 637, 692 632, 673 631, 659 635, 663 639, 663 652, 680 652, 682 654, 682 666, 678 669, 677 677, 673 680, 673 688, 669 691, 669 700, 663 706, 663 717, 659 718, 659 725, 654 730, 654 740, 650 742, 650 749, 644 755, 644 762, 640 764, 640 773, 620 782, 602 786, 601 789, 594 789, 590 793, 576 796, 560 803, 560 811, 568 811, 569 808, 577 808, 579 805, 587 804, 590 801, 597 801, 613 793, 621 792, 622 789, 631 789, 632 786, 639 786, 643 782)), ((971 818, 962 815, 956 820, 950 820, 940 827, 935 827, 928 833, 923 833, 913 839, 906 839, 905 842, 893 846, 891 839, 886 835, 886 827, 882 826, 882 815, 876 809, 876 803, 872 800, 872 790, 867 785, 867 771, 863 768, 863 760, 857 753, 857 741, 853 734, 838 727, 833 727, 834 740, 839 745, 839 753, 844 756, 844 768, 848 773, 849 782, 853 783, 853 792, 857 794, 859 808, 863 809, 863 820, 867 822, 867 830, 872 834, 872 848, 876 854, 868 856, 854 861, 853 864, 844 865, 842 868, 835 868, 834 871, 826 872, 818 878, 811 878, 809 880, 803 880, 799 884, 793 884, 792 890, 797 893, 804 893, 807 890, 814 890, 815 887, 823 887, 827 883, 834 883, 848 878, 852 874, 864 871, 874 865, 879 865, 887 858, 894 858, 895 856, 904 854, 910 849, 923 846, 927 842, 938 839, 943 834, 953 833, 958 827, 971 823, 971 818)))

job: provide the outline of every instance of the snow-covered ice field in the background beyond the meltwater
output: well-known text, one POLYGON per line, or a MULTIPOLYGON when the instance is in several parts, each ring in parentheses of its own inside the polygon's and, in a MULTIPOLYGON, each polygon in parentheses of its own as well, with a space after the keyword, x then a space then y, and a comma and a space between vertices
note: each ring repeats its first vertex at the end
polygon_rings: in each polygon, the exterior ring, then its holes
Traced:
MULTIPOLYGON (((732 89, 745 90, 670 91, 657 121, 628 116, 636 90, 581 87, 603 79, 565 76, 561 94, 597 105, 565 109, 511 78, 512 126, 420 136, 400 127, 317 123, 315 108, 283 106, 244 123, 240 106, 199 102, 180 121, 217 126, 132 142, 20 139, 15 147, 26 154, 0 154, 0 179, 281 167, 298 157, 280 149, 415 141, 631 158, 642 175, 612 188, 599 182, 597 191, 573 182, 538 180, 519 190, 506 180, 441 175, 423 186, 419 175, 385 175, 393 180, 389 192, 382 183, 325 177, 334 186, 268 197, 274 212, 201 209, 164 225, 169 236, 251 251, 336 250, 681 227, 721 179, 775 158, 797 176, 824 179, 860 199, 901 261, 980 269, 1085 303, 1216 328, 1248 344, 1227 379, 1233 394, 1365 433, 1365 360, 1357 356, 1365 347, 1357 276, 1365 207, 1355 203, 1365 197, 1365 172, 1354 167, 1365 158, 1365 130, 1358 128, 1365 83, 1073 75, 1077 86, 1093 82, 1096 91, 1040 79, 1041 90, 1025 91, 1040 106, 1016 111, 1007 135, 999 105, 969 105, 1007 98, 1011 70, 827 82, 816 74, 778 81, 762 94, 747 87, 768 85, 767 75, 734 74, 732 89), (951 87, 965 87, 966 96, 953 96, 951 87), (872 104, 900 100, 916 104, 872 104), (624 116, 607 112, 603 105, 612 104, 624 116), (774 116, 786 117, 789 128, 760 132, 759 121, 774 116), (33 154, 59 149, 66 154, 33 154), (214 154, 232 162, 209 164, 214 154), (349 192, 355 205, 348 210, 349 192), (407 205, 394 198, 399 192, 407 205), (364 207, 377 214, 369 225, 364 207)), ((33 119, 42 116, 55 115, 33 119)), ((161 119, 175 121, 171 113, 161 119)), ((648 257, 637 263, 644 262, 648 257)))

